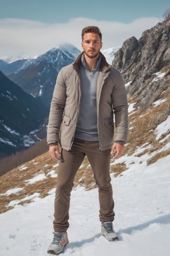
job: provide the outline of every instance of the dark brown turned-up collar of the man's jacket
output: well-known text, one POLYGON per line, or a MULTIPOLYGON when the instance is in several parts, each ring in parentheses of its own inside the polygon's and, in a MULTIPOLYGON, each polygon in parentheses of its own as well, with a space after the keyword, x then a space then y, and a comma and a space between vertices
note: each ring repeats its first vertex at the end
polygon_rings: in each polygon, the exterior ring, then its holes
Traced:
MULTIPOLYGON (((73 66, 75 68, 75 70, 79 71, 80 70, 80 66, 81 66, 81 57, 84 54, 84 51, 81 52, 77 59, 73 62, 73 66)), ((101 56, 101 62, 100 62, 100 67, 101 67, 101 72, 103 73, 107 73, 108 71, 111 70, 111 65, 109 65, 106 61, 105 56, 100 52, 100 56, 101 56)))

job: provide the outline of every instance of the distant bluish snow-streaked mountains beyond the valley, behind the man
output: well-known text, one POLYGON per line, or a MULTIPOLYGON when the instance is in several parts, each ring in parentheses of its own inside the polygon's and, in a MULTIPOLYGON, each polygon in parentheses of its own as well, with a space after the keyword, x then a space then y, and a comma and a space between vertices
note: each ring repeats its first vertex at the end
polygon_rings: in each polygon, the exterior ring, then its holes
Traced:
MULTIPOLYGON (((104 51, 110 63, 116 50, 113 47, 104 51)), ((0 70, 6 75, 0 75, 0 158, 46 137, 49 104, 57 74, 79 54, 76 47, 67 44, 38 57, 0 60, 0 70)))

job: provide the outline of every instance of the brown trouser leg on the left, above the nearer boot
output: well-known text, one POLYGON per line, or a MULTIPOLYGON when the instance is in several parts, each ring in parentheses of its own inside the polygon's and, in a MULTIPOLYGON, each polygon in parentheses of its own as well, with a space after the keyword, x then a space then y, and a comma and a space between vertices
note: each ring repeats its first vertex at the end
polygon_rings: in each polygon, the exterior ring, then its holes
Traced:
POLYGON ((70 195, 75 174, 85 154, 81 152, 81 143, 73 143, 71 151, 62 150, 57 173, 57 189, 55 196, 54 230, 66 231, 69 227, 70 195))

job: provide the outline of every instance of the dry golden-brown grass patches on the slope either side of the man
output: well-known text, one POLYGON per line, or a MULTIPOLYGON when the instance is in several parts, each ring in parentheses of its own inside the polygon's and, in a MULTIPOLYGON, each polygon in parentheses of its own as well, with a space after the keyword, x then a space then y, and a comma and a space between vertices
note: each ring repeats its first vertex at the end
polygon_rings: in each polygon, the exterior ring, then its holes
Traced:
MULTIPOLYGON (((167 100, 161 105, 157 107, 152 106, 146 111, 136 109, 129 116, 130 130, 128 144, 125 146, 124 154, 128 156, 135 155, 137 148, 141 147, 144 150, 142 153, 136 154, 135 157, 151 154, 151 157, 147 161, 148 165, 170 153, 169 150, 162 151, 162 148, 169 142, 169 137, 167 136, 169 131, 163 134, 159 140, 156 140, 155 134, 157 125, 165 121, 170 114, 170 94, 165 92, 163 96, 166 97, 167 100), (163 139, 164 141, 162 141, 163 139), (149 147, 147 147, 148 145, 149 147)), ((134 98, 131 98, 130 102, 133 103, 133 100, 134 98)), ((32 202, 33 199, 29 199, 28 196, 34 193, 39 193, 39 197, 41 198, 47 196, 49 191, 56 187, 57 178, 52 178, 49 175, 49 172, 52 170, 57 174, 56 164, 57 162, 46 152, 0 177, 0 213, 12 209, 13 206, 8 205, 11 201, 16 201, 16 204, 24 205, 32 202), (27 169, 24 170, 24 166, 27 166, 27 169), (32 179, 35 175, 42 173, 46 175, 46 179, 33 184, 27 182, 27 180, 32 179), (15 194, 3 195, 8 189, 13 188, 23 189, 15 194)), ((111 173, 114 173, 114 177, 122 175, 127 169, 125 162, 114 164, 114 161, 111 159, 111 173)), ((74 187, 78 185, 84 186, 87 190, 96 188, 94 175, 87 157, 84 158, 75 176, 74 187)))

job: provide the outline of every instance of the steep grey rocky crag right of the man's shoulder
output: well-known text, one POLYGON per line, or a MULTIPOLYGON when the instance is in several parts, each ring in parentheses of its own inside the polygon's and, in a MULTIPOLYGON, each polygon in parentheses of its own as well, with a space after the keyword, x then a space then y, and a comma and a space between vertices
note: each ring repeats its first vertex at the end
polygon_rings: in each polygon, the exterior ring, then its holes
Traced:
POLYGON ((112 65, 123 75, 128 97, 135 98, 135 107, 147 109, 162 98, 170 84, 170 20, 144 31, 139 40, 127 39, 112 65))

